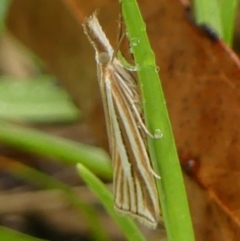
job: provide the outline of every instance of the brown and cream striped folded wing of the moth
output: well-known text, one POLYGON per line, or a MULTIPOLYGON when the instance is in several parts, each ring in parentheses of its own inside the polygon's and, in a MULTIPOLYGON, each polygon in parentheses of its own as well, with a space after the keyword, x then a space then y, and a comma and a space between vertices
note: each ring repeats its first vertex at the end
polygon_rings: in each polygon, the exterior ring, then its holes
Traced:
POLYGON ((114 164, 115 209, 155 228, 160 215, 155 179, 135 118, 119 82, 106 80, 106 99, 114 164), (111 138, 112 139, 112 138, 111 138))

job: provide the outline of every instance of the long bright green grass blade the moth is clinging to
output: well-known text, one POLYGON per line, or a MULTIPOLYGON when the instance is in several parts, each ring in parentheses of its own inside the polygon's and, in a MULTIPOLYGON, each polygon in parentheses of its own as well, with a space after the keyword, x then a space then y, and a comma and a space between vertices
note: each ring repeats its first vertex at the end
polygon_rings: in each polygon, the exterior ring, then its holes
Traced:
POLYGON ((145 120, 151 132, 162 133, 161 139, 149 140, 149 147, 154 170, 161 175, 157 184, 168 240, 193 241, 184 181, 146 26, 135 0, 122 0, 121 3, 131 50, 139 69, 145 120))

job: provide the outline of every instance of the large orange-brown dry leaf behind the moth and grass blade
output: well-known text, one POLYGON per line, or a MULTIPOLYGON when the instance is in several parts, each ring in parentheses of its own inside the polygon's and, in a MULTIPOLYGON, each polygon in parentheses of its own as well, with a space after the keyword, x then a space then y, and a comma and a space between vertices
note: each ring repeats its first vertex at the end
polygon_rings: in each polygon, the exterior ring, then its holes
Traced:
MULTIPOLYGON (((43 58, 86 117, 95 105, 99 112, 93 112, 92 126, 103 143, 93 51, 81 28, 84 16, 99 7, 100 22, 114 43, 119 6, 110 0, 15 0, 8 26, 43 58)), ((178 0, 142 0, 140 7, 179 155, 198 160, 194 179, 185 177, 197 240, 238 240, 239 68, 221 42, 189 22, 178 0)))

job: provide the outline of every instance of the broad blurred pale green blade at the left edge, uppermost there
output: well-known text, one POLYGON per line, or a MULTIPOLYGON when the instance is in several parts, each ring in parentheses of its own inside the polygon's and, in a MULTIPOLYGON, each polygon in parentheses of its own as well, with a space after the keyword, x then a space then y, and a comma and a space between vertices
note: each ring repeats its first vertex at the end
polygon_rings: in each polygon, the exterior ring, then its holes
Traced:
POLYGON ((51 76, 0 77, 0 119, 53 123, 79 119, 80 111, 51 76))

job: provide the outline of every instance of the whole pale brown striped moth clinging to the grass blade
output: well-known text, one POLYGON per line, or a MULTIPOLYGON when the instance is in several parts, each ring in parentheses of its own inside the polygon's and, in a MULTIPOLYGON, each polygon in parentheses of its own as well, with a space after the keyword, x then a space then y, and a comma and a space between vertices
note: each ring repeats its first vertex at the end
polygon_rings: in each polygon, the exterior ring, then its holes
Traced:
POLYGON ((117 212, 130 215, 150 228, 160 217, 158 193, 143 132, 137 83, 115 57, 96 12, 83 23, 95 49, 97 75, 105 112, 113 160, 114 205, 117 212))

